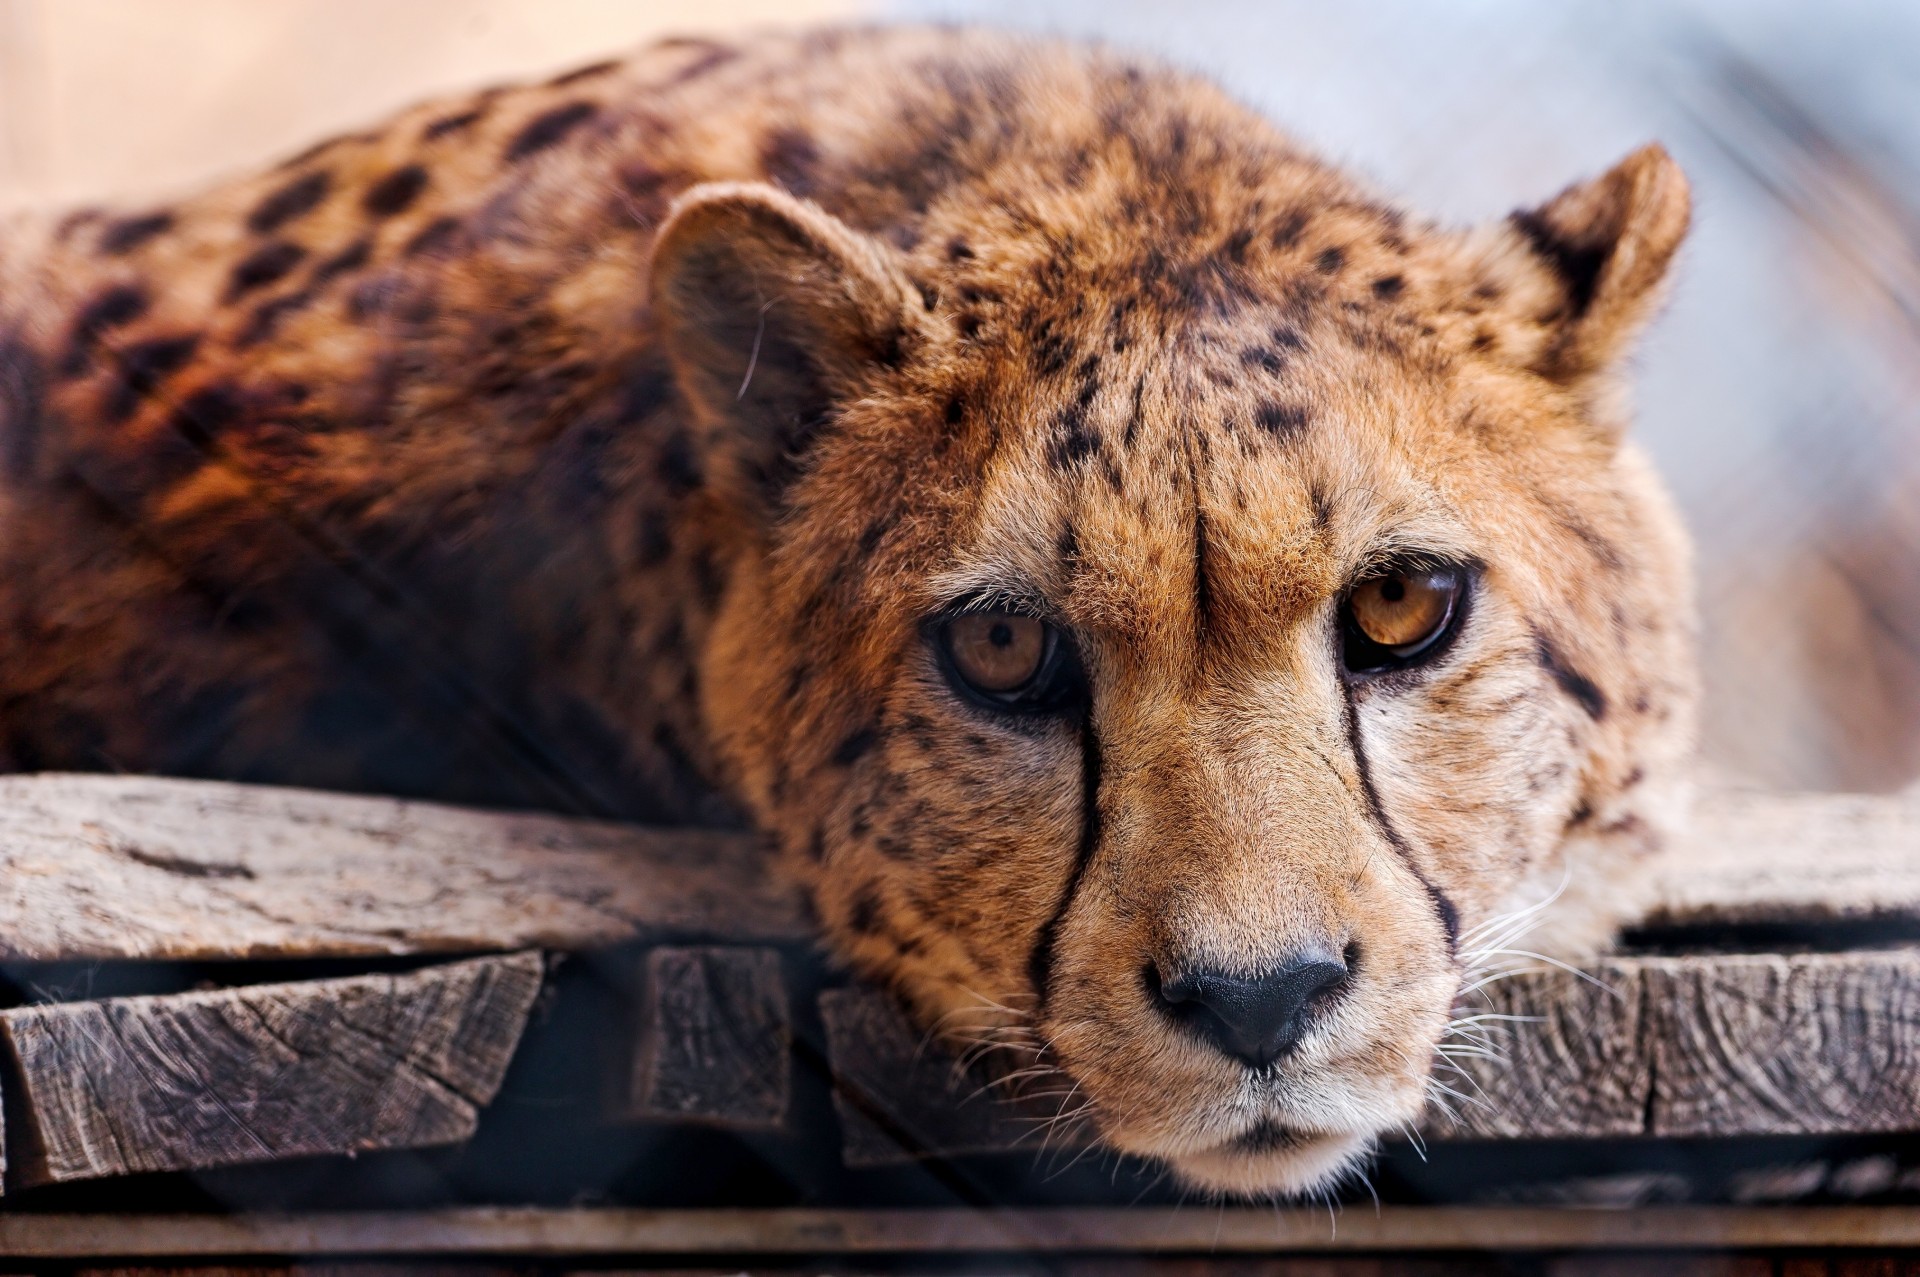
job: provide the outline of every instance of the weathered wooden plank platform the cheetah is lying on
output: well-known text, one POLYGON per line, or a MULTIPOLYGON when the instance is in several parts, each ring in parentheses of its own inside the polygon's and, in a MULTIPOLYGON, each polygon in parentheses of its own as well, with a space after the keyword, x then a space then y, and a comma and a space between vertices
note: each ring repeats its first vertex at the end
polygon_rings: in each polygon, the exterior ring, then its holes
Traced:
MULTIPOLYGON (((1027 1210, 1021 1196, 1048 1193, 1046 1175, 1062 1156, 1079 1160, 1087 1133, 1050 1133, 1043 1175, 995 1169, 1035 1160, 1052 1106, 960 1068, 887 995, 824 968, 803 903, 762 864, 743 833, 200 782, 0 778, 0 974, 13 989, 0 1000, 0 1254, 1920 1246, 1920 1212, 1837 1204, 1350 1204, 1334 1229, 1325 1212, 1112 1210, 1098 1189, 1027 1210), (516 1089, 516 1070, 538 1085, 516 1089), (513 1112, 493 1114, 503 1083, 513 1112), (522 1112, 536 1100, 568 1114, 564 1131, 549 1123, 555 1148, 541 1150, 538 1114, 522 1112), (501 1137, 509 1158, 564 1164, 603 1141, 695 1162, 707 1154, 685 1150, 720 1148, 849 1208, 637 1208, 680 1191, 666 1171, 636 1189, 634 1208, 591 1212, 138 1208, 156 1191, 248 1206, 250 1177, 221 1168, 276 1164, 288 1169, 252 1179, 428 1200, 388 1193, 378 1175, 442 1166, 499 1179, 486 1150, 503 1121, 520 1123, 518 1143, 501 1137), (447 1152, 397 1152, 409 1148, 447 1152), (899 1179, 904 1168, 925 1169, 899 1179), (167 1175, 184 1179, 169 1189, 167 1175), (826 1179, 837 1187, 818 1187, 826 1179), (970 1210, 889 1214, 889 1193, 970 1210), (113 1208, 73 1214, 86 1202, 113 1208), (991 1225, 981 1206, 996 1208, 991 1225)), ((1501 1058, 1467 1060, 1450 1079, 1457 1100, 1425 1121, 1434 1156, 1457 1144, 1448 1166, 1469 1166, 1513 1141, 1557 1141, 1538 1148, 1557 1150, 1565 1173, 1588 1141, 1596 1164, 1638 1168, 1663 1146, 1653 1137, 1732 1150, 1715 1156, 1734 1183, 1751 1146, 1782 1160, 1789 1189, 1774 1200, 1791 1200, 1793 1158, 1826 1158, 1820 1141, 1855 1156, 1878 1139, 1866 1154, 1893 1169, 1851 1181, 1836 1169, 1814 1177, 1826 1185, 1814 1196, 1845 1196, 1845 1183, 1866 1185, 1855 1196, 1868 1200, 1920 1191, 1920 1168, 1899 1156, 1899 1135, 1920 1129, 1920 947, 1908 947, 1920 941, 1920 801, 1713 793, 1674 866, 1620 954, 1484 991, 1505 1018, 1490 1022, 1501 1058), (1724 951, 1759 943, 1768 951, 1724 951)), ((1622 1183, 1634 1175, 1659 1181, 1634 1169, 1622 1183)), ((273 1193, 261 1200, 280 1200, 273 1193)))

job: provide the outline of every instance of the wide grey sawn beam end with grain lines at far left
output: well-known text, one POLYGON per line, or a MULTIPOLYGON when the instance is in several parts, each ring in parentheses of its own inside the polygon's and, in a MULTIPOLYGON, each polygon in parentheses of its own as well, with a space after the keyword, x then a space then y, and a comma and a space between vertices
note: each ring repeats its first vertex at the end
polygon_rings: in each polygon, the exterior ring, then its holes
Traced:
POLYGON ((0 1039, 25 1114, 15 1173, 60 1183, 467 1139, 541 974, 522 952, 8 1010, 0 1039))

